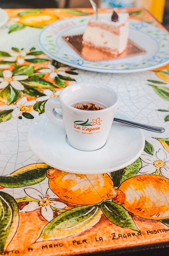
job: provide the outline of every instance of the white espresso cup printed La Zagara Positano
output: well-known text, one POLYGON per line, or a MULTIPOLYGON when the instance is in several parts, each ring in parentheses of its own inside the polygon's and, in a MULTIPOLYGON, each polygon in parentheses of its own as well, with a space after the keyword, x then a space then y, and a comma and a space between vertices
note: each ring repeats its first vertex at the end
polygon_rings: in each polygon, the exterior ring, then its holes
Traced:
POLYGON ((57 125, 64 125, 72 147, 83 151, 102 148, 109 135, 119 101, 115 90, 96 83, 76 83, 64 88, 60 97, 45 104, 46 116, 57 125), (72 107, 76 103, 95 103, 104 108, 86 111, 72 107), (62 114, 54 109, 61 108, 62 114))

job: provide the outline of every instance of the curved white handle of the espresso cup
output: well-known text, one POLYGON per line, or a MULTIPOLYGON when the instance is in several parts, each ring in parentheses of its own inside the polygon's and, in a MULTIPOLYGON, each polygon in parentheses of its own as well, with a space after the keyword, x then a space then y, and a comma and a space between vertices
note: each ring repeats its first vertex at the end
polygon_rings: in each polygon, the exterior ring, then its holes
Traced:
POLYGON ((49 118, 49 120, 54 122, 54 124, 64 125, 63 116, 58 114, 54 110, 54 108, 61 108, 59 97, 53 97, 47 100, 45 104, 45 113, 46 113, 46 116, 49 118))

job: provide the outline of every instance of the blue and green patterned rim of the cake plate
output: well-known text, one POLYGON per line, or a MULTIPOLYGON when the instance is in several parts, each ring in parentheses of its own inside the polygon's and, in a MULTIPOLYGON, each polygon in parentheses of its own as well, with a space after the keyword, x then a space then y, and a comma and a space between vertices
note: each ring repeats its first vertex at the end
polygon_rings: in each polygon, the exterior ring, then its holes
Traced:
MULTIPOLYGON (((116 65, 115 64, 110 64, 110 68, 105 68, 105 67, 102 67, 101 64, 100 64, 100 66, 96 67, 95 65, 98 65, 99 63, 101 63, 101 61, 100 62, 91 62, 91 61, 85 61, 85 60, 77 59, 76 58, 77 63, 73 63, 71 61, 68 61, 68 60, 64 59, 65 57, 64 58, 60 58, 58 52, 55 53, 55 54, 49 52, 48 49, 46 49, 47 43, 45 44, 45 46, 43 46, 41 37, 42 37, 42 35, 44 35, 46 33, 46 29, 49 29, 51 26, 56 26, 56 25, 59 25, 60 23, 65 23, 65 22, 69 22, 69 21, 79 22, 79 24, 75 24, 74 26, 84 26, 84 23, 83 24, 80 23, 79 20, 83 19, 83 20, 85 20, 87 22, 89 20, 89 18, 90 18, 90 16, 83 16, 83 17, 80 16, 80 17, 66 18, 64 20, 59 20, 59 21, 57 21, 55 23, 52 23, 52 24, 46 26, 40 32, 40 35, 39 35, 39 38, 38 38, 38 43, 39 43, 40 48, 43 50, 44 53, 46 53, 46 55, 50 56, 51 58, 53 58, 53 59, 55 59, 57 61, 62 62, 63 64, 66 64, 66 65, 69 65, 69 66, 72 66, 72 67, 76 67, 76 68, 79 68, 79 69, 82 69, 82 70, 88 70, 88 71, 100 72, 100 73, 136 73, 136 72, 142 72, 142 71, 147 71, 147 70, 153 70, 153 69, 156 69, 158 67, 162 67, 162 66, 164 66, 164 65, 169 63, 169 58, 167 58, 166 54, 163 57, 164 60, 163 60, 162 57, 160 58, 160 56, 159 56, 159 54, 161 55, 161 54, 164 54, 166 52, 160 53, 160 49, 162 49, 162 46, 160 46, 159 40, 162 41, 162 39, 159 38, 160 35, 158 35, 157 32, 162 33, 163 37, 166 37, 166 36, 169 37, 169 33, 167 33, 166 31, 163 31, 162 29, 160 29, 158 27, 152 26, 149 23, 145 23, 145 22, 138 21, 138 20, 133 20, 133 19, 130 19, 130 26, 132 26, 130 29, 135 29, 137 31, 141 30, 142 33, 144 33, 144 34, 148 35, 149 37, 151 37, 156 42, 156 44, 158 44, 158 52, 153 57, 150 58, 150 60, 152 59, 153 63, 156 62, 155 58, 158 58, 157 63, 154 64, 154 65, 149 63, 148 66, 129 68, 129 66, 131 66, 131 64, 135 64, 135 63, 131 63, 130 65, 129 64, 125 64, 125 66, 126 66, 125 68, 116 68, 115 69, 115 68, 112 68, 112 66, 118 67, 118 66, 122 66, 122 65, 121 64, 116 64, 116 65), (155 33, 155 32, 156 33, 154 35, 149 35, 148 32, 144 32, 144 30, 147 29, 147 28, 148 29, 152 28, 153 33, 155 33), (159 40, 156 40, 157 38, 159 40), (87 66, 85 66, 84 64, 87 65, 87 66), (93 66, 89 66, 89 65, 92 65, 92 64, 93 64, 93 66)), ((72 28, 74 26, 72 26, 72 28)), ((70 27, 69 27, 69 29, 70 29, 70 27)), ((66 31, 66 29, 63 29, 63 32, 65 32, 65 31, 66 31)), ((57 45, 58 38, 60 38, 62 36, 60 33, 61 32, 59 32, 58 35, 54 35, 55 45, 57 45)), ((48 34, 48 36, 49 36, 49 34, 48 34)), ((164 38, 164 40, 166 40, 166 38, 164 38)), ((164 45, 164 47, 165 47, 165 45, 164 45)), ((166 46, 166 47, 169 48, 169 46, 166 46)), ((169 53, 168 53, 168 56, 169 56, 169 53)), ((79 56, 79 58, 80 58, 80 56, 79 56)), ((149 61, 149 59, 147 59, 146 61, 149 61)), ((109 61, 106 61, 106 62, 109 62, 109 61)), ((140 64, 143 65, 143 63, 140 63, 140 64)), ((102 64, 102 65, 104 65, 104 64, 102 64)), ((137 66, 138 65, 139 64, 137 64, 137 66)), ((145 65, 145 63, 144 63, 144 65, 145 65)))

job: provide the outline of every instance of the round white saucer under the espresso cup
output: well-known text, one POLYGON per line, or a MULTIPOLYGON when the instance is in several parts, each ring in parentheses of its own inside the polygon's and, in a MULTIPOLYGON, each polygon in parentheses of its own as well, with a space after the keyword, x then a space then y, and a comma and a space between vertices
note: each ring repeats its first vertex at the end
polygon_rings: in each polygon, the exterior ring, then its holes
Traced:
MULTIPOLYGON (((128 119, 117 113, 116 117, 128 119)), ((77 174, 99 174, 124 168, 137 160, 145 145, 140 129, 118 122, 113 122, 106 144, 98 150, 80 151, 66 140, 65 128, 52 123, 45 113, 32 124, 28 134, 32 151, 44 163, 77 174)))

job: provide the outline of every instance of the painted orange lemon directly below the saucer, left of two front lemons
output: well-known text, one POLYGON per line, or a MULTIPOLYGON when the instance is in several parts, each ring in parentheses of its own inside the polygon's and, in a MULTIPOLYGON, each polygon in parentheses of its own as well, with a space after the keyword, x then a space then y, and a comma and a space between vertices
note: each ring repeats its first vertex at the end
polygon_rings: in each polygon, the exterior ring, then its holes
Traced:
POLYGON ((50 189, 72 204, 97 204, 112 194, 113 182, 107 174, 81 175, 52 168, 47 177, 50 189))

